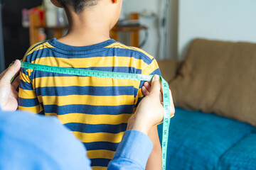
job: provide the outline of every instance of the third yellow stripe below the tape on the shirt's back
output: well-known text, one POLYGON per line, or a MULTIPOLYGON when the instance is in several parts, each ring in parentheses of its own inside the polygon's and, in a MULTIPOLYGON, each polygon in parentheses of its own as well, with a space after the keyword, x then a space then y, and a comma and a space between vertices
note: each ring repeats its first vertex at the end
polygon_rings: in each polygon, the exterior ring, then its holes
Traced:
MULTIPOLYGON (((54 115, 54 113, 49 113, 49 115, 54 115)), ((110 124, 119 125, 121 123, 127 123, 131 114, 121 114, 121 115, 89 115, 81 113, 70 113, 66 115, 58 115, 60 121, 65 123, 85 123, 90 125, 99 124, 110 124)))

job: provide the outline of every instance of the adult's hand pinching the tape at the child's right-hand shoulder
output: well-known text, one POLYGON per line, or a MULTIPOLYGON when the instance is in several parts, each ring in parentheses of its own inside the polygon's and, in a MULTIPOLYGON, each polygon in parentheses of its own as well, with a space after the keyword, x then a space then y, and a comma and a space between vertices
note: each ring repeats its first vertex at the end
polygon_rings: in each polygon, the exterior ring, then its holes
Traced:
MULTIPOLYGON (((148 135, 149 130, 164 118, 164 106, 161 103, 162 96, 159 97, 161 91, 161 83, 159 76, 155 75, 151 81, 151 91, 139 103, 137 111, 129 118, 127 130, 139 130, 148 135)), ((171 94, 171 91, 170 91, 171 94)), ((171 99, 171 115, 174 115, 175 108, 172 96, 171 99)))

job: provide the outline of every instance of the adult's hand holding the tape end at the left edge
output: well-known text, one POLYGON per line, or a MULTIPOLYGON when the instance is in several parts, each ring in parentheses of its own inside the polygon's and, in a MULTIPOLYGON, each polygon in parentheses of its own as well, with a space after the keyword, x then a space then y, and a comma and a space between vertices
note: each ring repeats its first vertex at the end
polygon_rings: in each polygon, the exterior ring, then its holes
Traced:
POLYGON ((13 77, 21 69, 21 62, 16 60, 14 64, 0 74, 0 106, 4 111, 16 111, 18 108, 19 76, 11 83, 13 77))

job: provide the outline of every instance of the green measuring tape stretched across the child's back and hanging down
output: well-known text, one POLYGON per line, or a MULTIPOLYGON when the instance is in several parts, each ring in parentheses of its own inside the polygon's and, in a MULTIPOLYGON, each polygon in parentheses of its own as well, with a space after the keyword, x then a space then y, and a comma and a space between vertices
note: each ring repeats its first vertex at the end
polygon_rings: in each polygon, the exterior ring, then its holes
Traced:
MULTIPOLYGON (((89 69, 73 69, 65 67, 54 67, 41 64, 32 64, 28 62, 21 62, 21 67, 24 69, 33 69, 42 72, 52 72, 58 74, 70 74, 84 77, 102 77, 111 79, 129 79, 139 81, 151 81, 154 77, 152 75, 144 74, 130 74, 121 72, 102 72, 89 69)), ((163 83, 163 99, 164 99, 164 125, 163 125, 163 139, 162 139, 162 163, 163 170, 166 170, 166 157, 167 157, 167 144, 169 137, 169 126, 171 119, 171 105, 170 105, 170 93, 169 84, 162 77, 160 77, 163 83)))

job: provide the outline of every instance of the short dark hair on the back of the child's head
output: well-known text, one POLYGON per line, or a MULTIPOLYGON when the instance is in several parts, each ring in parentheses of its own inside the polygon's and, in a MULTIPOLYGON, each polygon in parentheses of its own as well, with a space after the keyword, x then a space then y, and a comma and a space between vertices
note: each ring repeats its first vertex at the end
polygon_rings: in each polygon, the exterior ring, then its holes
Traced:
POLYGON ((95 6, 99 0, 57 0, 64 8, 73 8, 80 13, 87 6, 95 6))

